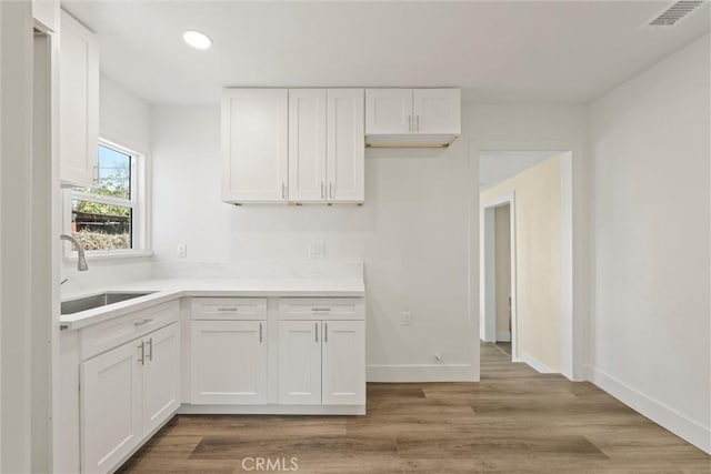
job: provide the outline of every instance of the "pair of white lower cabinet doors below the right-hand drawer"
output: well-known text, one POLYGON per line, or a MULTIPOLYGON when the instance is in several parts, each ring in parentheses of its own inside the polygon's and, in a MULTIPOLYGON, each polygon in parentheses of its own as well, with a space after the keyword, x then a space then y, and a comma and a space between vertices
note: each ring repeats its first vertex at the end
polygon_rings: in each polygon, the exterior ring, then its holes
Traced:
POLYGON ((280 321, 279 403, 365 404, 365 323, 280 321))

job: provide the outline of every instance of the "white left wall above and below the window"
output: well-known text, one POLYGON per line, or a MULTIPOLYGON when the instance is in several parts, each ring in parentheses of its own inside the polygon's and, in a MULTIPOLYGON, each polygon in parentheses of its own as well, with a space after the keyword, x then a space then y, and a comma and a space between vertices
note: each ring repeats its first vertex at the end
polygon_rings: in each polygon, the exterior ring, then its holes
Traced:
MULTIPOLYGON (((102 73, 99 108, 100 137, 147 154, 147 170, 150 173, 150 105, 102 73)), ((69 282, 62 285, 61 289, 63 296, 93 288, 146 280, 151 274, 151 262, 147 258, 90 259, 88 263, 89 271, 78 272, 76 260, 63 262, 61 269, 62 279, 69 278, 69 282)))

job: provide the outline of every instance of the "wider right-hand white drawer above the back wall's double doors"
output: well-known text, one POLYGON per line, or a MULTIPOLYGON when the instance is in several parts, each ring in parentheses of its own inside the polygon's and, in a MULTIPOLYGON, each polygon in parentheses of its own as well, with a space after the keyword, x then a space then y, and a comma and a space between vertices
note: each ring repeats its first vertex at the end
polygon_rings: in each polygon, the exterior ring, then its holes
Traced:
POLYGON ((282 297, 280 320, 364 320, 362 297, 282 297))

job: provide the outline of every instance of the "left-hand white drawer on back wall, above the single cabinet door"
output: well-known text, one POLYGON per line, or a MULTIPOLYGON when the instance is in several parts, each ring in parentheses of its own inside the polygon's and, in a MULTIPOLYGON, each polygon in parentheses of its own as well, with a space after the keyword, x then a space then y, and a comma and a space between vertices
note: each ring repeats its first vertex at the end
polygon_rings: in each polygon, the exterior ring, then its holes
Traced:
POLYGON ((193 297, 193 320, 266 320, 266 297, 193 297))

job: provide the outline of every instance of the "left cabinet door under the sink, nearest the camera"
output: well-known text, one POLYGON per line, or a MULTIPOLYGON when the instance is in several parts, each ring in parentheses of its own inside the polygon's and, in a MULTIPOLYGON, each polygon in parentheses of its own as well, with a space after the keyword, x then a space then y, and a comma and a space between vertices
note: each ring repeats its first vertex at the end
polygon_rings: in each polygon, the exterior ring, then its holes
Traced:
POLYGON ((141 343, 81 364, 81 466, 106 473, 142 441, 141 343))

